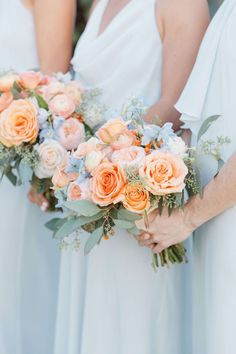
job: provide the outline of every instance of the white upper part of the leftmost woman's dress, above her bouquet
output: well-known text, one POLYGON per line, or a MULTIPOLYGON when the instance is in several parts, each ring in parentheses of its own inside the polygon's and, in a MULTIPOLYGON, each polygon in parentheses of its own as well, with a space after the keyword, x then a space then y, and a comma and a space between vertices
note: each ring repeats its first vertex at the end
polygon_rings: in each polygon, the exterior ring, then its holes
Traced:
POLYGON ((33 16, 21 0, 0 0, 0 71, 37 68, 33 16))

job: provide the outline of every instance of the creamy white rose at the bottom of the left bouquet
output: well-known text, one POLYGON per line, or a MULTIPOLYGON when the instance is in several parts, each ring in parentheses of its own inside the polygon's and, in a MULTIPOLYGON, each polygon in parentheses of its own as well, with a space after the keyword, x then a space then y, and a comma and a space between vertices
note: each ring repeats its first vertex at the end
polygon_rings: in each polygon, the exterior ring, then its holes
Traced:
POLYGON ((39 164, 35 167, 38 178, 50 178, 61 165, 67 151, 55 140, 45 140, 35 147, 39 154, 39 164))

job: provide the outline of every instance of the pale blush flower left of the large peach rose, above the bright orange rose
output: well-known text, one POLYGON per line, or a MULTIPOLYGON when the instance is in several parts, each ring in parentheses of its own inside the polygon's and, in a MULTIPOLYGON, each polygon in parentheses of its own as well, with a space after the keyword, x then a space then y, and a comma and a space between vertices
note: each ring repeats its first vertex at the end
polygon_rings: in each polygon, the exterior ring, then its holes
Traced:
POLYGON ((114 151, 111 160, 123 166, 139 166, 145 156, 146 153, 142 147, 130 146, 114 151))

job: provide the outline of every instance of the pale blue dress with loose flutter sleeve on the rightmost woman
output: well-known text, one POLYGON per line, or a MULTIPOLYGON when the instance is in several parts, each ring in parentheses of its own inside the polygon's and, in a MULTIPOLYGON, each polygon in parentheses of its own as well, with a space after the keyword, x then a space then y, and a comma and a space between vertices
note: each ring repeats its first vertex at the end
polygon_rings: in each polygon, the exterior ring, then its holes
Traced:
MULTIPOLYGON (((193 144, 202 122, 220 114, 203 139, 228 136, 227 161, 236 151, 236 1, 226 0, 203 40, 195 68, 177 103, 193 144)), ((203 165, 205 182, 214 176, 203 165)), ((217 191, 216 191, 217 193, 217 191)), ((236 328, 236 209, 195 232, 193 263, 193 354, 234 354, 236 328)))

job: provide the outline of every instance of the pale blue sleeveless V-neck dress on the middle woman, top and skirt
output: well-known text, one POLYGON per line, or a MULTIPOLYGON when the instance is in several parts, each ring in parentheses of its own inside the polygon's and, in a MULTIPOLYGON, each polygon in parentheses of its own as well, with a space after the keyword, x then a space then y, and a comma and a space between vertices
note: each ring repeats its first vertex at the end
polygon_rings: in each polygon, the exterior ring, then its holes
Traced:
MULTIPOLYGON (((133 94, 160 97, 162 42, 155 0, 131 0, 98 34, 107 0, 96 6, 73 58, 77 79, 102 89, 119 112, 133 94)), ((54 354, 189 354, 187 265, 151 267, 151 252, 125 231, 83 255, 62 255, 54 354), (186 345, 186 346, 185 346, 186 345)))

